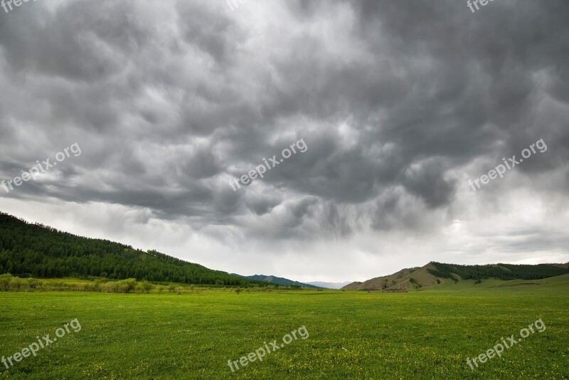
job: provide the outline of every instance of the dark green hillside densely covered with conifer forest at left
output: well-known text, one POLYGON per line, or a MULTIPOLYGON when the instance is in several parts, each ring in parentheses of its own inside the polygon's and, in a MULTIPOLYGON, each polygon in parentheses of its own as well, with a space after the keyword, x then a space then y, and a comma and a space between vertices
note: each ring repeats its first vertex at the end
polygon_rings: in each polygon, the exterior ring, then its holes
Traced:
POLYGON ((0 274, 63 278, 97 276, 123 280, 240 285, 257 281, 239 278, 163 253, 134 250, 107 240, 83 238, 0 213, 0 274))

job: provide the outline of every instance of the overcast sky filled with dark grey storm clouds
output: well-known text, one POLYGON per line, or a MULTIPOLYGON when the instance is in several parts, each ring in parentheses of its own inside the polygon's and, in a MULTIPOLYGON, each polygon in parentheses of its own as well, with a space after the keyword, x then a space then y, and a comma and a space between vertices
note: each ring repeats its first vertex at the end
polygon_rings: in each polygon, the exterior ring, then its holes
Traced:
POLYGON ((300 281, 569 261, 568 1, 236 4, 0 8, 0 179, 81 149, 0 210, 300 281))

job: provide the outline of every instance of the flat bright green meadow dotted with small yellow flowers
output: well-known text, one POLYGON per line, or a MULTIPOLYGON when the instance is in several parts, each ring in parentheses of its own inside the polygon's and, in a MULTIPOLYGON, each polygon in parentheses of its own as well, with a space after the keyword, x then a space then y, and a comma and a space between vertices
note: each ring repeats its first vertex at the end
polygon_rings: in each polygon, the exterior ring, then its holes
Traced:
POLYGON ((0 379, 567 379, 569 275, 435 286, 425 292, 106 294, 0 292, 0 355, 77 318, 73 330, 0 379), (530 283, 526 281, 525 283, 530 283), (531 334, 471 370, 501 337, 531 334), (228 359, 286 344, 232 374, 228 359))

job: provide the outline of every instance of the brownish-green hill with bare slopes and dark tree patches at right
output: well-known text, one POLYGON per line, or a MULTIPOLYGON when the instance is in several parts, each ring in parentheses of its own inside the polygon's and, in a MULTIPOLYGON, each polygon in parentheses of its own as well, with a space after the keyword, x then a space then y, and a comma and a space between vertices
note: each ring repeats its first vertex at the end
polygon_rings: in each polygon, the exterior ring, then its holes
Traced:
POLYGON ((403 269, 363 283, 351 283, 344 286, 344 290, 384 290, 408 291, 419 290, 452 281, 458 283, 462 280, 482 280, 494 278, 496 280, 539 280, 569 273, 567 264, 488 264, 488 265, 455 265, 431 262, 421 268, 403 269))

